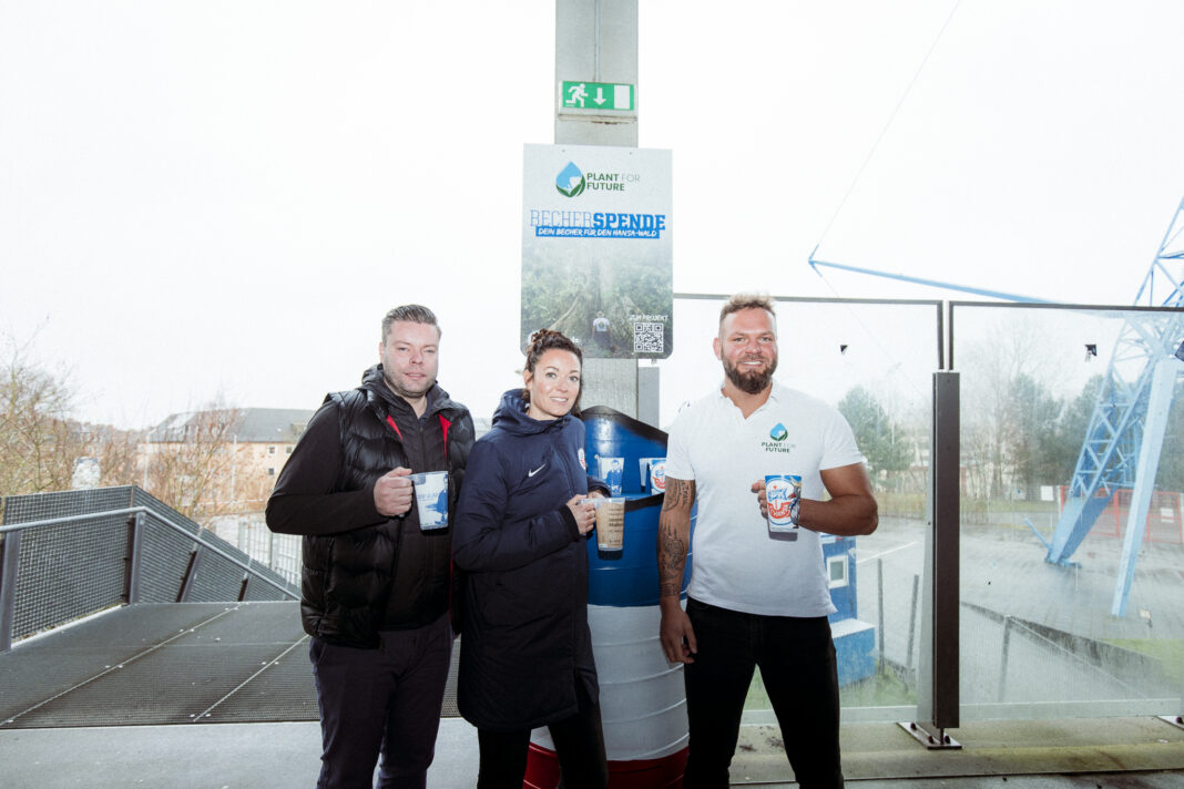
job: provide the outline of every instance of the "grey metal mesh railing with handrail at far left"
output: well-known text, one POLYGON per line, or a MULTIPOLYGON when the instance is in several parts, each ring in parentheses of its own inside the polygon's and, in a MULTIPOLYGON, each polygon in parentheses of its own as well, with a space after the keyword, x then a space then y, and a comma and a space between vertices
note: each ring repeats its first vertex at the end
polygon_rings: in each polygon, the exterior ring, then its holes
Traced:
POLYGON ((298 600, 297 586, 136 486, 0 499, 0 652, 129 603, 298 600))

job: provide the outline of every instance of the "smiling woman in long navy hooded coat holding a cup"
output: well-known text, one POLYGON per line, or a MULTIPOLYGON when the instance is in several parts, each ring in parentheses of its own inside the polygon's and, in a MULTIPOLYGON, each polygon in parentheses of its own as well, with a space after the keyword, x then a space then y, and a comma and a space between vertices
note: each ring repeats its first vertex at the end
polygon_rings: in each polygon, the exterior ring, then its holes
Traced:
POLYGON ((607 784, 585 544, 588 487, 607 486, 587 474, 573 414, 581 366, 564 335, 532 335, 525 387, 502 395, 469 455, 452 557, 466 578, 457 704, 477 727, 478 789, 519 789, 530 730, 543 725, 565 787, 607 784))

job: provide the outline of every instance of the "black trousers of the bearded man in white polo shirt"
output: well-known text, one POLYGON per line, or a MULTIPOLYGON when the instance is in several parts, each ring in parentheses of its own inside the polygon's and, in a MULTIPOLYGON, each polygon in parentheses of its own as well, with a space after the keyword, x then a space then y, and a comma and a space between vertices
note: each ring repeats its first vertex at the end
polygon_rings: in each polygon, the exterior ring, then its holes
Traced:
POLYGON ((838 668, 825 616, 742 614, 687 601, 699 652, 683 667, 690 743, 686 789, 726 789, 754 667, 802 789, 843 785, 838 668))

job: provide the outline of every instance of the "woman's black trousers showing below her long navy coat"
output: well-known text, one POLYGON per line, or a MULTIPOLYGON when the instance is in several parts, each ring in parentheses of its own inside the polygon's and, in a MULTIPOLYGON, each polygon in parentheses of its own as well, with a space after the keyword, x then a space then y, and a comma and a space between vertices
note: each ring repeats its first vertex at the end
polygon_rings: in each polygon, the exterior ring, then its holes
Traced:
MULTIPOLYGON (((592 703, 578 679, 579 712, 547 725, 555 744, 555 756, 564 789, 604 789, 609 785, 609 763, 604 752, 600 705, 592 703)), ((477 730, 481 769, 477 789, 522 789, 526 776, 530 730, 477 730)))

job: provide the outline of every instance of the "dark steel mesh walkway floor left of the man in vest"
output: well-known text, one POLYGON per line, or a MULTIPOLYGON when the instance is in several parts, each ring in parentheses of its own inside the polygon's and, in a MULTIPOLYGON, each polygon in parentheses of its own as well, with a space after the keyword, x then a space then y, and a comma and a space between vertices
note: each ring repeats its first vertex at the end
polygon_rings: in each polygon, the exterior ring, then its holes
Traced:
POLYGON ((318 717, 296 602, 118 608, 0 654, 0 729, 318 717))

